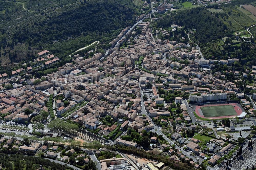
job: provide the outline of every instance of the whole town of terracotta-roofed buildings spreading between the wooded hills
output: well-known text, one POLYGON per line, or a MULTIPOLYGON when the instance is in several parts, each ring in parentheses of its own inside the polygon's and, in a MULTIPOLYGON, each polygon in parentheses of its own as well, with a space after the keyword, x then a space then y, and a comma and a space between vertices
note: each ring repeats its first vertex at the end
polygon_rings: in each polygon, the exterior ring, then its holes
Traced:
POLYGON ((0 74, 1 152, 73 169, 254 169, 256 66, 207 59, 193 32, 157 27, 172 3, 143 7, 102 53, 56 67, 44 49, 0 74))

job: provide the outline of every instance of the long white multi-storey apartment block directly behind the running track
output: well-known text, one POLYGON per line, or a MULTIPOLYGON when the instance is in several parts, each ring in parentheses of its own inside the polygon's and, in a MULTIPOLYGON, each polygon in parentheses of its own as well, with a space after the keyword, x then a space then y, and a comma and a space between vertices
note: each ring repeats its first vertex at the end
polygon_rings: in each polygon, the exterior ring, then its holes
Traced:
POLYGON ((189 101, 202 103, 205 101, 225 100, 227 99, 227 93, 216 93, 216 94, 202 94, 201 96, 190 95, 189 101))

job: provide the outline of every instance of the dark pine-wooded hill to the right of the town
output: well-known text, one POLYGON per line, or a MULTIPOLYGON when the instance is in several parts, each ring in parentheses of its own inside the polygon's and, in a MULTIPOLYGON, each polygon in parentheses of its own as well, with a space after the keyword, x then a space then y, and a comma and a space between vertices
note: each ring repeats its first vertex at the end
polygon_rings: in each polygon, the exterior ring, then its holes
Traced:
POLYGON ((184 9, 164 16, 156 24, 160 28, 168 28, 172 24, 184 27, 184 30, 196 30, 199 43, 217 40, 223 37, 227 26, 205 8, 184 9))

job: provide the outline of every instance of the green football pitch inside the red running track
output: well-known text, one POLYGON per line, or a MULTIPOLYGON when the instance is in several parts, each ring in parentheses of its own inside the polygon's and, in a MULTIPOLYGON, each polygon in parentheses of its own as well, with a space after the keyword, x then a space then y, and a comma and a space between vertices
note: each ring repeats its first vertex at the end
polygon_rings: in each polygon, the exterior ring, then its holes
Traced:
POLYGON ((231 116, 237 114, 232 105, 205 106, 200 107, 200 109, 205 117, 231 116))

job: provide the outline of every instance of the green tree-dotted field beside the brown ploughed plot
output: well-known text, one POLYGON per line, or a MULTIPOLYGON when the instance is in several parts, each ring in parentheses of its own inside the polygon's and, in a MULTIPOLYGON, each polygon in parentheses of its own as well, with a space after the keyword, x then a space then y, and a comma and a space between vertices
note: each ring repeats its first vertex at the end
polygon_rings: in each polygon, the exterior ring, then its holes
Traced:
POLYGON ((222 7, 222 10, 231 18, 233 18, 243 28, 248 28, 256 24, 256 21, 251 19, 249 16, 244 14, 241 10, 237 9, 236 7, 222 7))

